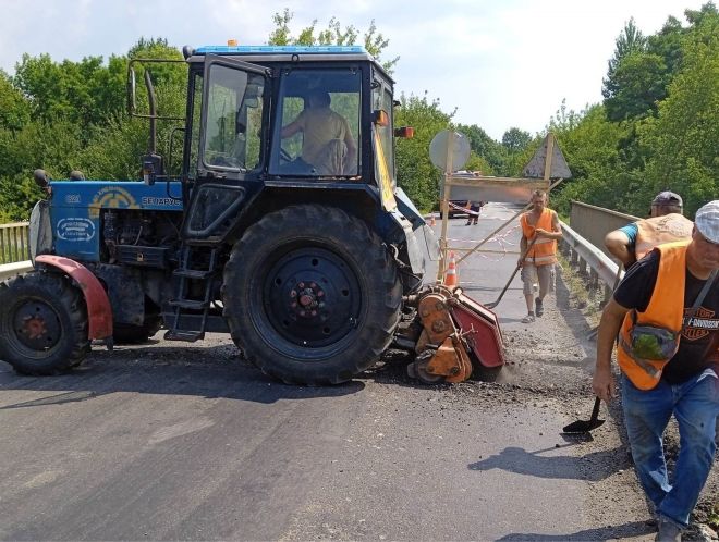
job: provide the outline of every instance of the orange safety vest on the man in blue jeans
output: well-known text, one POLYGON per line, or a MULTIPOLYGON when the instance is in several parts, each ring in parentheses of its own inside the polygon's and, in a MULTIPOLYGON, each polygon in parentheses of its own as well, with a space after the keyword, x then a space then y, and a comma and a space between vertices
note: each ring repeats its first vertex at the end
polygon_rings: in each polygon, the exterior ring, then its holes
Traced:
MULTIPOLYGON (((659 272, 651 298, 644 312, 636 312, 637 325, 655 325, 678 334, 682 330, 684 318, 684 281, 686 279, 686 246, 688 241, 668 243, 657 247, 659 250, 659 272)), ((630 330, 634 325, 632 313, 627 312, 620 330, 617 360, 619 367, 639 390, 651 390, 659 383, 661 371, 669 362, 666 360, 641 359, 631 355, 630 330)), ((681 337, 678 337, 679 349, 681 337)), ((677 350, 674 350, 674 354, 677 350)), ((673 356, 673 354, 672 354, 673 356)))

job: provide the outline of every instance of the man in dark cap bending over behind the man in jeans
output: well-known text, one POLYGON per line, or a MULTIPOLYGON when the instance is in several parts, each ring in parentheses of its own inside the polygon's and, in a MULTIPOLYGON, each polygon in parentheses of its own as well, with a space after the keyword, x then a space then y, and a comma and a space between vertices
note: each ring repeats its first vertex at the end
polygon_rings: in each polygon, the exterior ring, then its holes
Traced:
POLYGON ((609 232, 605 246, 629 269, 657 245, 692 237, 694 223, 682 217, 683 201, 679 194, 660 192, 651 200, 650 218, 609 232))

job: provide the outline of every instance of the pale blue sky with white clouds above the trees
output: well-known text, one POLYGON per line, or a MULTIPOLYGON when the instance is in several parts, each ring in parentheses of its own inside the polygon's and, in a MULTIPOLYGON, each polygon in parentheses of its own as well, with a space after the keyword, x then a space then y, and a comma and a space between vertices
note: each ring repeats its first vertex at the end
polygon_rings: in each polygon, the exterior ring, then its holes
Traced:
POLYGON ((601 79, 624 23, 644 35, 707 0, 0 0, 0 69, 23 53, 52 60, 125 54, 141 37, 170 45, 261 45, 289 8, 294 34, 336 17, 364 34, 374 20, 399 57, 395 95, 438 99, 454 120, 501 140, 541 132, 559 110, 601 101, 601 79))

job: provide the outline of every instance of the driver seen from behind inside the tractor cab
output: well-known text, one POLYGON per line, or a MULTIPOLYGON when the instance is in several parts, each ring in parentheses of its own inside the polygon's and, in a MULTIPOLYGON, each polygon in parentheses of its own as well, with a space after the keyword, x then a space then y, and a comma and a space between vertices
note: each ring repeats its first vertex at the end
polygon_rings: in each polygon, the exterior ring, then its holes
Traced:
POLYGON ((357 147, 346 119, 330 109, 325 90, 312 90, 307 107, 287 126, 282 138, 302 132, 302 160, 320 175, 355 175, 357 147))

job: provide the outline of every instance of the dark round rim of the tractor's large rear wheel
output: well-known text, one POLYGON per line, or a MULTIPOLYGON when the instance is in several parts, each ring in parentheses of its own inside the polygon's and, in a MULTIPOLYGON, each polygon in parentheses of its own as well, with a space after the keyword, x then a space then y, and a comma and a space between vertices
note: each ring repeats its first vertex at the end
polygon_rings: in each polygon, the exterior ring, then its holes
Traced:
POLYGON ((309 348, 340 342, 356 329, 362 311, 357 273, 336 252, 292 249, 269 266, 263 312, 285 341, 309 348))

